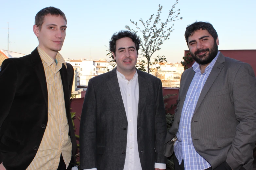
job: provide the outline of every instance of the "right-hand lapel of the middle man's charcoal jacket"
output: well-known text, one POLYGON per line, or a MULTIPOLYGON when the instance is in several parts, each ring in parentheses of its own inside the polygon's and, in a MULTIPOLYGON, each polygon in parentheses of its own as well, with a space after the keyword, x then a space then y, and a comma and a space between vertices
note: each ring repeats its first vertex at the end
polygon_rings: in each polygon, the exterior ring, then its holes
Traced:
POLYGON ((139 82, 139 104, 138 104, 138 120, 139 122, 141 111, 143 106, 146 103, 146 97, 147 97, 147 92, 148 92, 148 80, 143 77, 142 71, 137 70, 138 74, 138 82, 139 82))

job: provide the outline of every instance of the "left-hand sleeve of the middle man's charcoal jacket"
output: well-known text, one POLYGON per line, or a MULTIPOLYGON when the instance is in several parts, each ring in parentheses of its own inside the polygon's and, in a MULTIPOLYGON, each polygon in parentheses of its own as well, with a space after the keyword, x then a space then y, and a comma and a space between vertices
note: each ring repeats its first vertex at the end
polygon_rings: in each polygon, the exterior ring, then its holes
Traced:
POLYGON ((96 98, 92 79, 85 93, 80 122, 80 169, 96 167, 96 98))

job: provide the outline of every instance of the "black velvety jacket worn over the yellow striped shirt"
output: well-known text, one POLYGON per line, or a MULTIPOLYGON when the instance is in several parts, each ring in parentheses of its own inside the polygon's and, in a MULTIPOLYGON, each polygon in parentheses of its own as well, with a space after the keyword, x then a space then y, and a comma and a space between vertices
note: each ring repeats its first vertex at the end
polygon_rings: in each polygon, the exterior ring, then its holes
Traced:
MULTIPOLYGON (((62 65, 69 135, 75 155, 76 139, 70 115, 74 69, 62 65)), ((37 48, 21 58, 9 58, 0 72, 0 162, 7 170, 25 170, 34 159, 48 121, 48 92, 37 48)), ((75 159, 75 157, 73 157, 75 159)))

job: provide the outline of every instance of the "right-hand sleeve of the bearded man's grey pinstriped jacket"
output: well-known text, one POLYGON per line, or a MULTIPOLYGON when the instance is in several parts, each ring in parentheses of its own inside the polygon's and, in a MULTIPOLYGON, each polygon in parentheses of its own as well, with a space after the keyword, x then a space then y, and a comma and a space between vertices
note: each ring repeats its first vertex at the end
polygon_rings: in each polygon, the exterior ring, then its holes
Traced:
POLYGON ((252 159, 256 142, 256 78, 249 64, 242 64, 236 73, 232 96, 239 124, 226 162, 233 170, 238 170, 252 159))

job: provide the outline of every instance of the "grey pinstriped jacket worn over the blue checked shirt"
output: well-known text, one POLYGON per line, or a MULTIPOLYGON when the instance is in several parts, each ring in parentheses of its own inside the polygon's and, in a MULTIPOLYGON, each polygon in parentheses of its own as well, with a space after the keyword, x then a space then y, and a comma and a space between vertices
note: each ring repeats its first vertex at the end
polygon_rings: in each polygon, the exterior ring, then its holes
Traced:
MULTIPOLYGON (((195 75, 184 71, 173 125, 166 135, 165 156, 173 152, 186 93, 195 75)), ((222 53, 213 66, 196 104, 191 136, 196 151, 216 168, 226 162, 233 170, 252 169, 256 142, 256 78, 251 66, 222 53)))

